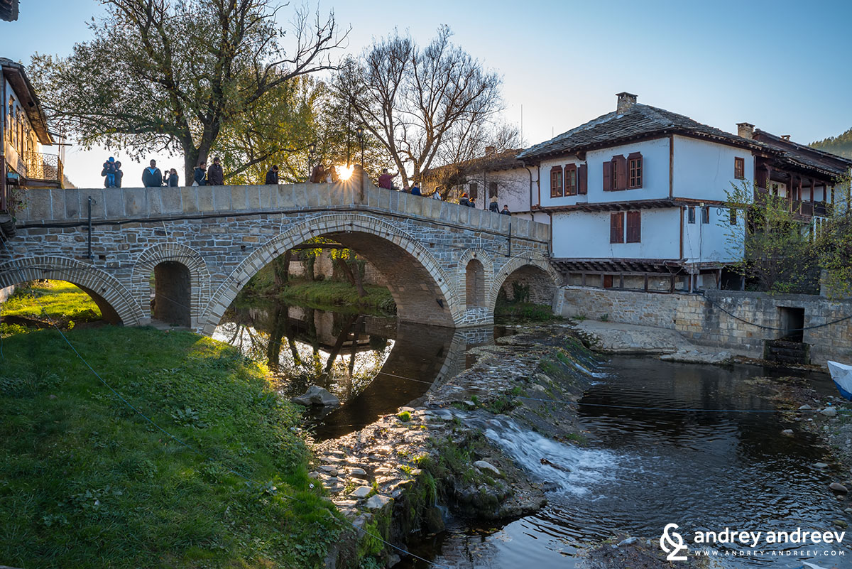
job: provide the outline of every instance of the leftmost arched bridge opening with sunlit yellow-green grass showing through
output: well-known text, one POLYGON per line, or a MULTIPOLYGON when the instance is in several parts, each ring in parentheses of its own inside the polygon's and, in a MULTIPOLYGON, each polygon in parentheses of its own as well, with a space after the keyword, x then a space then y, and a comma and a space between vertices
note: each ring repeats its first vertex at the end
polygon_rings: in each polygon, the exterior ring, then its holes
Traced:
POLYGON ((71 328, 91 322, 121 325, 103 296, 66 280, 38 279, 0 288, 0 315, 8 325, 71 328))

